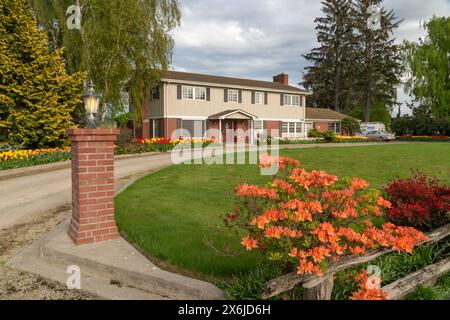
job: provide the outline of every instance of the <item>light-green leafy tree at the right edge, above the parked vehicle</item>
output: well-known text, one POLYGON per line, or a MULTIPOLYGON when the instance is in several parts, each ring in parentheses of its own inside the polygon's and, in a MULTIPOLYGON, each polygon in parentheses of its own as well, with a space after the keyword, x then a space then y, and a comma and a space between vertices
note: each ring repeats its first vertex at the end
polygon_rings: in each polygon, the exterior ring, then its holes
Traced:
POLYGON ((450 118, 450 17, 434 17, 419 43, 405 41, 406 91, 433 117, 450 118))

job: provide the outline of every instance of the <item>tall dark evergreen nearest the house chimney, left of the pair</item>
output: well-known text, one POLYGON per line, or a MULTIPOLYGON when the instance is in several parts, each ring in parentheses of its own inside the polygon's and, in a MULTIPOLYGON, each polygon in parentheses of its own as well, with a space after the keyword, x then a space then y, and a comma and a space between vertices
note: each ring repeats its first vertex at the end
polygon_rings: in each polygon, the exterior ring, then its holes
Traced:
POLYGON ((311 62, 302 83, 312 91, 312 104, 348 112, 353 73, 352 4, 349 0, 322 1, 323 17, 316 18, 317 41, 303 57, 311 62))

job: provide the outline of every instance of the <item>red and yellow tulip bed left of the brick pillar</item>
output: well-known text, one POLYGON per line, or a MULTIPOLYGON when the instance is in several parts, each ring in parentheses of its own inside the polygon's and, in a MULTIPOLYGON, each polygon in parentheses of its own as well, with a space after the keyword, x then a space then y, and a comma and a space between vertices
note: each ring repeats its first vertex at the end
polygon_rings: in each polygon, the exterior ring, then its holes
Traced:
POLYGON ((0 170, 31 167, 70 160, 70 148, 5 151, 0 153, 0 170))

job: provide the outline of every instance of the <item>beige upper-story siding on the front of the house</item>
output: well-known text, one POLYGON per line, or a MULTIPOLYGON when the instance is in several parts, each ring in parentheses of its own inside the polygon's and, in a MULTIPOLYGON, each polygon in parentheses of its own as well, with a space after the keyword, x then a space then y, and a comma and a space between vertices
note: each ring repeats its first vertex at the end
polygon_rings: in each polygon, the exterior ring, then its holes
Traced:
MULTIPOLYGON (((200 86, 200 85, 198 85, 200 86)), ((150 106, 151 117, 199 117, 208 118, 211 115, 225 110, 242 109, 264 120, 300 120, 305 119, 305 108, 294 106, 280 106, 281 93, 268 93, 268 104, 252 104, 252 91, 242 90, 242 103, 224 102, 225 88, 210 87, 210 101, 192 101, 177 99, 177 84, 165 83, 161 90, 161 100, 152 101, 150 106), (166 99, 164 99, 166 98, 166 99), (164 112, 165 110, 165 112, 164 112)), ((255 89, 257 91, 257 89, 255 89)), ((261 90, 264 92, 264 90, 261 90)), ((266 91, 267 92, 267 91, 266 91)), ((306 97, 302 96, 302 105, 305 105, 306 97)))

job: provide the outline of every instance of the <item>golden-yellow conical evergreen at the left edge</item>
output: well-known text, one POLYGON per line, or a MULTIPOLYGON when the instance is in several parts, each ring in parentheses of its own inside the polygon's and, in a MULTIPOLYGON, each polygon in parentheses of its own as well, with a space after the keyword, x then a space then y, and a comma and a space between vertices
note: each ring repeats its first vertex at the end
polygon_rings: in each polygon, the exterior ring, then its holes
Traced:
POLYGON ((83 74, 49 51, 26 0, 0 0, 0 128, 28 147, 60 146, 81 104, 83 74))

